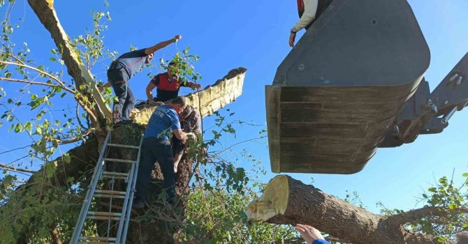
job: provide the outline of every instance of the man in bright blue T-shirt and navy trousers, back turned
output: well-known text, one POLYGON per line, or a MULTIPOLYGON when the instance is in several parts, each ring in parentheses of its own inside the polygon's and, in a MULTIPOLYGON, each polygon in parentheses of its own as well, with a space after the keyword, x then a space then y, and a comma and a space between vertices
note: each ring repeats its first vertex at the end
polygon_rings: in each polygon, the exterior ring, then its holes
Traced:
POLYGON ((175 197, 175 173, 170 137, 175 135, 180 140, 187 140, 189 137, 193 137, 193 133, 183 132, 180 127, 178 114, 182 113, 186 106, 186 98, 177 97, 167 105, 157 107, 151 118, 149 118, 141 146, 141 159, 136 181, 136 199, 133 202, 134 208, 145 206, 146 190, 151 180, 154 162, 156 161, 159 162, 163 173, 167 201, 173 204, 175 197))

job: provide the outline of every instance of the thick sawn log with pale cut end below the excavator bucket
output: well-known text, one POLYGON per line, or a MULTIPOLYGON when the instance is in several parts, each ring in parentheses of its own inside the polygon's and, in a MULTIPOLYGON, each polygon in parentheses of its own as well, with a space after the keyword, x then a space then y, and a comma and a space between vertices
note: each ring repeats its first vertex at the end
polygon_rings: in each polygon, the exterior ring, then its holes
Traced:
POLYGON ((388 221, 391 217, 374 215, 284 175, 272 178, 261 199, 249 204, 246 213, 251 220, 309 224, 346 243, 439 243, 436 236, 395 226, 388 221))

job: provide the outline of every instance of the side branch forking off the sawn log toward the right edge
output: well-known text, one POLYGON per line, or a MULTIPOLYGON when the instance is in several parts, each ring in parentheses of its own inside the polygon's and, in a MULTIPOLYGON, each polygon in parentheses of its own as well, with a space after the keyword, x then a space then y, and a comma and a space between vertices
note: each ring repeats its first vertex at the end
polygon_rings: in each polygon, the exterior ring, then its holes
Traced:
POLYGON ((439 216, 446 217, 449 214, 468 213, 468 208, 454 208, 444 209, 438 207, 427 206, 424 208, 413 209, 404 213, 391 215, 387 218, 387 222, 393 226, 400 226, 402 224, 411 223, 416 220, 421 220, 425 217, 439 216))

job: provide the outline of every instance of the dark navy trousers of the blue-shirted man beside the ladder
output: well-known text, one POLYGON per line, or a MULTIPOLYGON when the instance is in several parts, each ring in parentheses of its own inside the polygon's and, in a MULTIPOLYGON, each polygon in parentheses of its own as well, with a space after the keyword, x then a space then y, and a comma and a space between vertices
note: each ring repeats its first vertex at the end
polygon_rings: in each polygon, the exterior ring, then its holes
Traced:
POLYGON ((154 162, 159 163, 164 177, 167 200, 173 203, 175 197, 174 157, 170 142, 157 137, 143 139, 141 146, 140 166, 136 179, 136 197, 145 200, 146 191, 151 181, 154 162))

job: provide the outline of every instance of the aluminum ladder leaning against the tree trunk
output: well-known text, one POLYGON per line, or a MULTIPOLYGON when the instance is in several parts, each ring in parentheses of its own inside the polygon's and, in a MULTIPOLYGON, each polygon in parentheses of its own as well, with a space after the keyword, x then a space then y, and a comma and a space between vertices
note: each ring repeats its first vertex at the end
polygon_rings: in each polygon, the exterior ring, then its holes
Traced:
POLYGON ((129 228, 129 222, 131 217, 131 206, 133 204, 133 195, 136 188, 136 176, 138 174, 138 165, 140 164, 140 148, 143 138, 140 139, 139 146, 131 146, 124 144, 112 144, 111 141, 112 130, 108 131, 105 137, 103 148, 99 154, 98 163, 94 169, 94 174, 89 183, 88 190, 86 193, 85 200, 78 216, 73 236, 71 238, 71 244, 80 243, 112 243, 112 244, 124 244, 126 240, 127 230, 129 228), (136 161, 124 160, 118 158, 106 158, 108 148, 131 148, 138 150, 138 157, 136 161), (105 171, 105 163, 126 163, 131 164, 131 168, 128 173, 116 172, 116 171, 105 171), (98 182, 103 179, 110 179, 111 190, 98 190, 96 189, 98 182), (115 180, 126 181, 126 191, 113 190, 115 186, 115 180), (89 211, 89 206, 92 204, 92 199, 109 199, 110 205, 108 212, 96 212, 89 211), (121 213, 112 212, 112 200, 113 199, 124 199, 121 213), (82 236, 82 229, 85 226, 85 220, 107 220, 107 236, 95 237, 95 236, 82 236), (117 236, 110 236, 110 229, 112 222, 118 222, 117 236))

